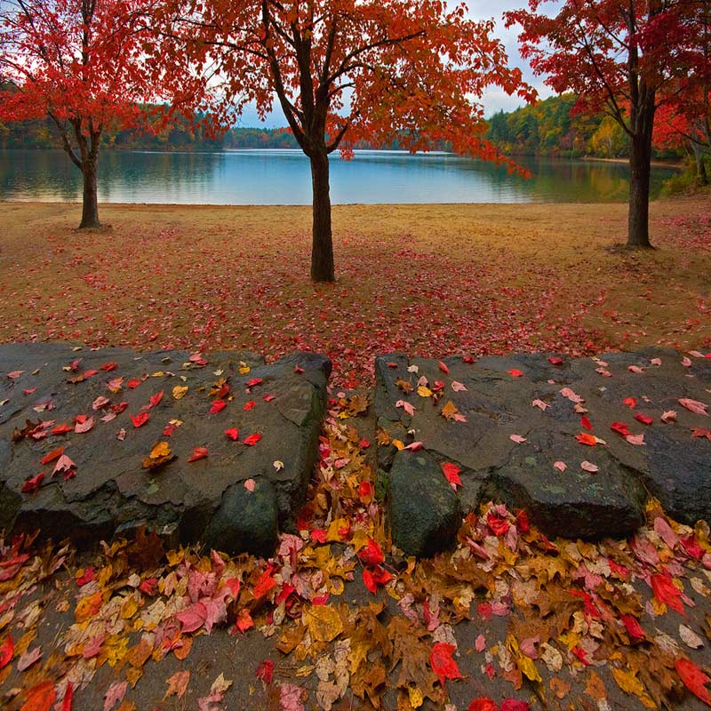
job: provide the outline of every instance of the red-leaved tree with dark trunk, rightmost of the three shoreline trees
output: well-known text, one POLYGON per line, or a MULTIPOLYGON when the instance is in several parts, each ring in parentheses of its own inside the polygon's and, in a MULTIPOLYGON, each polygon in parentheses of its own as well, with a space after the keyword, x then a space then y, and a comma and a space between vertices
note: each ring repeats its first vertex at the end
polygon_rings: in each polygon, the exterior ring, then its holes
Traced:
POLYGON ((707 0, 563 0, 557 14, 539 9, 553 0, 529 0, 529 10, 507 12, 519 23, 524 58, 556 92, 572 91, 576 110, 603 110, 629 140, 627 245, 650 247, 651 140, 659 105, 694 68, 699 7, 707 0))

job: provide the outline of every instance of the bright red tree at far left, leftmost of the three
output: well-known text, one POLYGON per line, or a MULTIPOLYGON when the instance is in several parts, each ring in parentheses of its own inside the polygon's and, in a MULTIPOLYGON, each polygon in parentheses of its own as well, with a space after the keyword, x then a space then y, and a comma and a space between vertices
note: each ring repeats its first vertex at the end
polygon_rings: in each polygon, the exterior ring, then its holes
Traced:
POLYGON ((84 179, 80 228, 100 226, 101 135, 136 124, 154 92, 140 61, 146 29, 134 0, 5 0, 0 119, 49 116, 84 179))

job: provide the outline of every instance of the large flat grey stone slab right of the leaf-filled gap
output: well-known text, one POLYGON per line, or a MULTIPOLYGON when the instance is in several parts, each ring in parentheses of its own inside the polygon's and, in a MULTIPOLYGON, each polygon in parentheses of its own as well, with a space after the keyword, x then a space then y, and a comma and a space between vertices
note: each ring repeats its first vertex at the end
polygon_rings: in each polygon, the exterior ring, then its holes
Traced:
MULTIPOLYGON (((625 535, 643 522, 650 496, 683 523, 711 522, 711 418, 680 403, 711 405, 711 359, 648 349, 552 360, 379 357, 375 411, 396 441, 379 447, 379 466, 387 473, 399 447, 421 442, 440 465, 459 467, 464 513, 498 500, 526 509, 548 535, 625 535), (449 402, 461 417, 443 416, 449 402), (668 411, 676 417, 665 422, 668 411), (615 422, 642 440, 614 431, 615 422)), ((397 468, 402 480, 402 461, 397 468)))

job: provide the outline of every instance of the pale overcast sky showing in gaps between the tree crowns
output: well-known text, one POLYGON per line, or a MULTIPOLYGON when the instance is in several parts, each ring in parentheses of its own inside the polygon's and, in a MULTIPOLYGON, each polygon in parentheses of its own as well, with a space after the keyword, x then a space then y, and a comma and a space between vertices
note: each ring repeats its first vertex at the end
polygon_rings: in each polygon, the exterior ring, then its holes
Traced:
MULTIPOLYGON (((501 20, 503 12, 525 6, 526 0, 468 0, 467 5, 469 8, 469 16, 475 20, 489 20, 490 18, 496 20, 497 29, 495 34, 506 46, 509 64, 514 67, 520 67, 523 70, 523 78, 529 84, 536 87, 541 99, 550 96, 553 92, 543 84, 543 77, 533 76, 528 63, 522 60, 521 55, 518 53, 518 43, 516 42, 516 36, 518 34, 517 28, 507 29, 501 20)), ((489 117, 501 109, 504 111, 512 111, 517 107, 523 106, 525 102, 517 96, 507 96, 507 93, 499 89, 499 87, 492 87, 490 91, 484 93, 482 103, 484 113, 489 117)), ((247 107, 244 109, 244 113, 238 121, 238 125, 245 127, 259 126, 261 128, 280 128, 286 125, 286 121, 284 120, 281 110, 278 108, 278 104, 276 104, 276 110, 271 116, 268 116, 266 123, 262 124, 260 122, 254 108, 247 107)))

